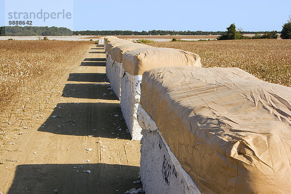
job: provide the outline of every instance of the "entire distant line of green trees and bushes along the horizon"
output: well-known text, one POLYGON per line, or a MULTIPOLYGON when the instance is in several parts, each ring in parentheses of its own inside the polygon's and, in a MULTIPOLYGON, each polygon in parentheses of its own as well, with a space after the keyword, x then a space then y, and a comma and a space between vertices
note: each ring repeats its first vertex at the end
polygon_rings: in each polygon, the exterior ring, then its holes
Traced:
MULTIPOLYGON (((282 38, 290 38, 291 23, 288 21, 283 26, 282 38)), ((242 34, 256 34, 254 38, 275 38, 276 31, 273 32, 243 32, 241 30, 236 31, 235 25, 231 24, 226 28, 226 32, 216 31, 71 31, 68 28, 58 27, 39 27, 39 26, 6 26, 0 27, 0 36, 69 36, 69 35, 220 35, 219 40, 225 39, 246 39, 247 37, 242 34), (263 35, 259 35, 263 34, 263 35)))

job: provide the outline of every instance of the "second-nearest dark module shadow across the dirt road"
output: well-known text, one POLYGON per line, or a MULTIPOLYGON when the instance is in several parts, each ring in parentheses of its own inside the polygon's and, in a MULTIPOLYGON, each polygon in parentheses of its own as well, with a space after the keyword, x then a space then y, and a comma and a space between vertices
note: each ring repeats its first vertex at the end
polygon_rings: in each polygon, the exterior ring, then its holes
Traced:
POLYGON ((125 129, 127 126, 119 104, 99 102, 59 103, 38 130, 62 135, 130 140, 125 129))

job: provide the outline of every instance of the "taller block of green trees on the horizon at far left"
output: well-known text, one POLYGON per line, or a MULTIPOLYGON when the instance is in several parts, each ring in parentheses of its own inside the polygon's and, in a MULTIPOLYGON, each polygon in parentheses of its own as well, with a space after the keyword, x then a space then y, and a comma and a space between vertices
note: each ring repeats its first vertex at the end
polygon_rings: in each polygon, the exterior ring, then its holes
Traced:
POLYGON ((0 36, 70 36, 73 31, 68 28, 39 26, 5 26, 0 27, 0 36))

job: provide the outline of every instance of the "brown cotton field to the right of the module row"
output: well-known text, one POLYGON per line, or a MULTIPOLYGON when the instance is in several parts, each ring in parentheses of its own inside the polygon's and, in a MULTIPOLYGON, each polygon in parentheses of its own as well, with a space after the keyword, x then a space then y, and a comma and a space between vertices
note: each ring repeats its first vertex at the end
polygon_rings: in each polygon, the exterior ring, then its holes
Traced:
POLYGON ((197 53, 203 67, 238 67, 257 78, 291 87, 291 40, 154 42, 153 47, 197 53))

